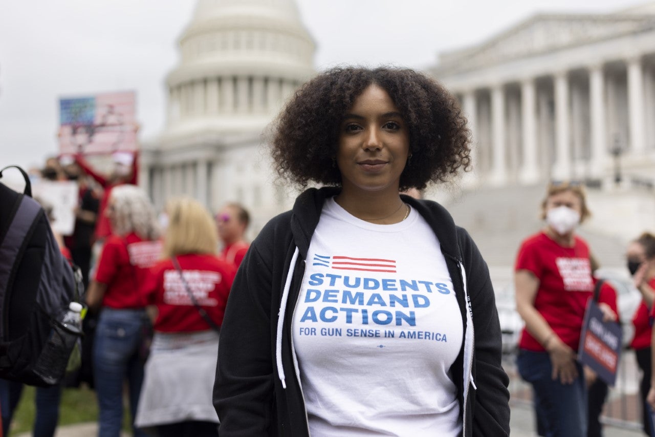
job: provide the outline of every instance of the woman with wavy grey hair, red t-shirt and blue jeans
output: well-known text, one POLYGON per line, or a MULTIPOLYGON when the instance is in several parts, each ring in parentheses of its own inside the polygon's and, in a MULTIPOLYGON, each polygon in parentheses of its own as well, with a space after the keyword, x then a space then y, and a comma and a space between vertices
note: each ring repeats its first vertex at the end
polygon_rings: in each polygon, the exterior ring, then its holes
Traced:
MULTIPOLYGON (((143 382, 139 352, 149 324, 141 286, 147 268, 160 256, 161 243, 155 209, 137 186, 113 188, 105 214, 114 233, 105 240, 86 304, 92 311, 102 308, 93 352, 99 435, 118 436, 125 379, 132 418, 136 414, 143 382)), ((135 428, 134 436, 145 434, 135 428)))

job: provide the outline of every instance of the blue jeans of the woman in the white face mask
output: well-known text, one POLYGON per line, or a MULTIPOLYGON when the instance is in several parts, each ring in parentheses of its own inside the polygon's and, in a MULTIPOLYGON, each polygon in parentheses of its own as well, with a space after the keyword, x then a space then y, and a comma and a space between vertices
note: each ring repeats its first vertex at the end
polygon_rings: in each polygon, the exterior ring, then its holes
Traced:
POLYGON ((519 374, 533 386, 534 413, 546 437, 587 435, 587 389, 582 365, 576 362, 578 378, 565 385, 554 380, 547 352, 521 349, 516 360, 519 374))

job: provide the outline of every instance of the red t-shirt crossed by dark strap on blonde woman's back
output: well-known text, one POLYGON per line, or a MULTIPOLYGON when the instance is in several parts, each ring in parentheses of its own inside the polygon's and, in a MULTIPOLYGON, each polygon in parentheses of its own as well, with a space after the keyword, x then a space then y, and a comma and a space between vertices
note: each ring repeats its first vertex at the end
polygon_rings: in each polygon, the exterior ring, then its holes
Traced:
MULTIPOLYGON (((178 256, 184 279, 196 301, 217 324, 223 324, 227 296, 236 269, 215 255, 178 256)), ((212 327, 200 316, 170 259, 150 269, 143 287, 145 300, 159 310, 155 330, 160 332, 206 331, 212 327)))

